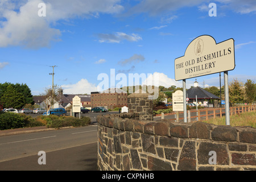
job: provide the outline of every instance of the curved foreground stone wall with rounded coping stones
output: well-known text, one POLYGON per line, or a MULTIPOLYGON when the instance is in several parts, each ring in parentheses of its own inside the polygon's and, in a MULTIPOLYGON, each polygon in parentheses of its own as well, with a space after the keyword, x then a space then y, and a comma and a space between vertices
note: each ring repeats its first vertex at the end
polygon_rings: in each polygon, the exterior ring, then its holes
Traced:
POLYGON ((137 119, 97 117, 100 170, 256 170, 256 129, 137 119))

